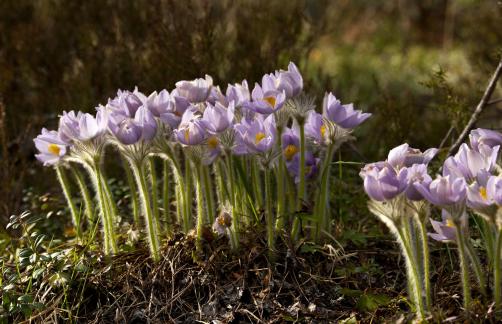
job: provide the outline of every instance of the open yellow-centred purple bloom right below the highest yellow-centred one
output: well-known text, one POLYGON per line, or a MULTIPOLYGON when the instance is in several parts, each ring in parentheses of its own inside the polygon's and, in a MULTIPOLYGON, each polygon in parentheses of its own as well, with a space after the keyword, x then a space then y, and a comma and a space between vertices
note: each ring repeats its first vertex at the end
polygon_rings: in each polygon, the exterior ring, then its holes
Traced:
MULTIPOLYGON (((246 149, 242 153, 267 152, 274 146, 276 138, 274 115, 266 118, 263 115, 256 115, 251 121, 243 119, 235 125, 235 131, 239 134, 236 138, 238 144, 241 142, 246 149)), ((240 153, 241 150, 242 148, 239 148, 236 153, 240 153)))

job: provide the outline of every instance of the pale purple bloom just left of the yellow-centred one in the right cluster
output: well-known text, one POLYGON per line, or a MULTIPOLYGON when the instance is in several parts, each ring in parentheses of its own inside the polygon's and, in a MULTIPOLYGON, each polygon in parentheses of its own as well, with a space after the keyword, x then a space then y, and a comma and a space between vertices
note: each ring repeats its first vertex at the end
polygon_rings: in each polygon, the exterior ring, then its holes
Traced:
POLYGON ((449 175, 438 176, 429 184, 415 183, 413 186, 426 200, 437 206, 464 203, 467 195, 464 178, 454 178, 449 175))

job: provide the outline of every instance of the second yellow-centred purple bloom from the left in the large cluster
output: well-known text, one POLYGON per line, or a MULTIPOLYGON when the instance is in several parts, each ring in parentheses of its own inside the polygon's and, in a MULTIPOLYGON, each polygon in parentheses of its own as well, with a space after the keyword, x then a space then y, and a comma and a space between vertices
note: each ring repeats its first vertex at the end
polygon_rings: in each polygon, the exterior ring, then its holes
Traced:
POLYGON ((190 106, 181 119, 181 123, 174 130, 174 136, 184 145, 201 144, 207 136, 201 114, 195 106, 190 106))

